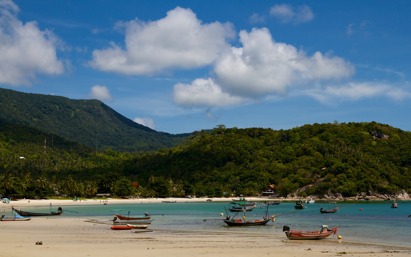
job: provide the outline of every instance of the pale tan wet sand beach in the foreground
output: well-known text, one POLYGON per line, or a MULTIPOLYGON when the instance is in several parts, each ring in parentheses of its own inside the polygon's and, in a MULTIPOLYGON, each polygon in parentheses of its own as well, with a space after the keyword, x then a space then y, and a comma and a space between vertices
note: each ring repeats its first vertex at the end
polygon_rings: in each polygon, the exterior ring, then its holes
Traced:
POLYGON ((344 238, 338 240, 332 236, 298 241, 287 240, 282 232, 222 234, 149 226, 153 232, 132 233, 144 230, 119 231, 111 230, 111 226, 95 220, 61 217, 0 222, 0 256, 411 256, 411 248, 347 243, 344 238), (35 245, 37 241, 43 245, 35 245))

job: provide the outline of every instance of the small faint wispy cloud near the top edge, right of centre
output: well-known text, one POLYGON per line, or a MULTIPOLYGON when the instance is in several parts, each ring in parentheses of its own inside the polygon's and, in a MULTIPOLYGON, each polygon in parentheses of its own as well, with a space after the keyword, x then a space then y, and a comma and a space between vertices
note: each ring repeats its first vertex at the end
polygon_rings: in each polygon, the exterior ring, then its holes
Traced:
POLYGON ((282 23, 304 23, 314 18, 311 8, 307 5, 301 5, 297 8, 286 4, 274 5, 270 9, 270 15, 276 16, 282 23))

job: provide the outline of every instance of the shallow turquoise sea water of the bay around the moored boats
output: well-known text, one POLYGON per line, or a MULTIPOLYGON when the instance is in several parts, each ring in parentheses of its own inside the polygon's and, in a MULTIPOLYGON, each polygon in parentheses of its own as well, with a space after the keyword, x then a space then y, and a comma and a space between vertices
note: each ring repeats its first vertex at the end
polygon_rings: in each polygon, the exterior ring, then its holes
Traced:
MULTIPOLYGON (((337 204, 351 204, 352 201, 339 201, 337 204)), ((53 218, 81 218, 93 220, 112 219, 112 209, 122 209, 117 213, 127 215, 163 214, 164 216, 153 216, 155 221, 150 225, 151 229, 188 230, 188 231, 210 231, 210 232, 239 232, 239 233, 263 233, 271 236, 273 240, 286 239, 284 233, 276 230, 288 225, 291 229, 316 231, 321 225, 337 227, 337 234, 342 236, 345 242, 368 243, 376 245, 409 247, 411 236, 411 201, 398 201, 399 208, 390 208, 391 201, 360 201, 356 204, 340 208, 336 213, 321 214, 319 206, 328 208, 328 201, 316 201, 314 204, 305 204, 307 208, 294 213, 279 216, 268 225, 231 227, 226 226, 222 220, 226 216, 224 206, 227 202, 177 202, 177 203, 133 203, 133 204, 90 204, 90 205, 65 205, 64 210, 78 211, 77 213, 65 212, 63 216, 53 218), (362 208, 363 211, 359 209, 362 208), (220 216, 224 213, 224 216, 220 216), (273 226, 274 225, 274 226, 273 226)), ((53 206, 57 209, 58 206, 53 206)), ((23 208, 22 208, 23 209, 23 208)), ((48 212, 47 207, 24 208, 26 211, 48 212)), ((270 205, 269 216, 294 211, 293 202, 282 202, 279 205, 270 205)), ((261 219, 266 213, 266 207, 255 208, 246 212, 246 220, 261 219)), ((236 213, 229 212, 233 217, 236 213)), ((236 217, 241 218, 242 213, 236 217)), ((334 240, 332 237, 325 240, 334 240)))

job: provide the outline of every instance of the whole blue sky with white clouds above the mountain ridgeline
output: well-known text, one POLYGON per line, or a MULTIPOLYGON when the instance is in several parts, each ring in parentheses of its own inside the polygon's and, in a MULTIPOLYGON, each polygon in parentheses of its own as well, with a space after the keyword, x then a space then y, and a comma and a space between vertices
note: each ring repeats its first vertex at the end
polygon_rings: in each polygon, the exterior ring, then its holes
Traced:
POLYGON ((411 129, 408 1, 0 0, 0 87, 159 131, 411 129))

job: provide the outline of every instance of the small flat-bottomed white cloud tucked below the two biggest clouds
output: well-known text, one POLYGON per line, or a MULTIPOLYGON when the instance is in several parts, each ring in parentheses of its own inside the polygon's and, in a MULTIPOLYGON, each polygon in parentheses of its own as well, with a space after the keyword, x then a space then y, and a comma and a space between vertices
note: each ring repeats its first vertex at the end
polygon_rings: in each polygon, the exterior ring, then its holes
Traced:
POLYGON ((242 104, 245 98, 230 96, 209 79, 196 79, 191 84, 174 85, 173 100, 183 107, 227 107, 242 104))

